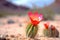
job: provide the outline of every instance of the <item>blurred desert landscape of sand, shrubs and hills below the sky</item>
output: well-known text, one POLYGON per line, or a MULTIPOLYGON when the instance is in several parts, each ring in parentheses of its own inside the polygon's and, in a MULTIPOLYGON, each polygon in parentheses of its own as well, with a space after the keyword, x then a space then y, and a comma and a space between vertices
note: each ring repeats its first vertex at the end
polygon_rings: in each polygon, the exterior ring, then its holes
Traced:
POLYGON ((0 40, 60 40, 60 0, 55 0, 49 6, 40 8, 32 3, 33 8, 25 5, 16 6, 6 0, 0 0, 0 40), (28 24, 28 12, 38 11, 44 15, 44 20, 39 24, 35 39, 26 38, 25 29, 28 24), (59 38, 43 37, 43 23, 50 22, 59 31, 59 38), (6 37, 8 35, 8 37, 6 37))

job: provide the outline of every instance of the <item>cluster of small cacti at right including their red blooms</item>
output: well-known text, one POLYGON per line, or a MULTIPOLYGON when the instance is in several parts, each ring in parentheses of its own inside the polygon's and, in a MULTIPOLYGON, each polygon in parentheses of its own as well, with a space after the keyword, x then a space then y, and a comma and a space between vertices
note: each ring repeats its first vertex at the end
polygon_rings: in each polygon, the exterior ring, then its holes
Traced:
POLYGON ((45 29, 43 30, 44 36, 47 37, 59 37, 58 30, 53 25, 44 24, 45 29))

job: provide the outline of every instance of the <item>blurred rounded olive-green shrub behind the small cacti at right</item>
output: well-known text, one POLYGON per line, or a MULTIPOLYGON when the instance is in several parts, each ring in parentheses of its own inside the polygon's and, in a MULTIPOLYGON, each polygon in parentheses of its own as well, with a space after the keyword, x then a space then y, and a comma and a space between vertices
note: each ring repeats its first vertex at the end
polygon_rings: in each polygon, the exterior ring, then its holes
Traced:
POLYGON ((42 10, 42 13, 44 15, 45 20, 53 20, 55 13, 53 12, 52 9, 45 8, 45 9, 42 10))

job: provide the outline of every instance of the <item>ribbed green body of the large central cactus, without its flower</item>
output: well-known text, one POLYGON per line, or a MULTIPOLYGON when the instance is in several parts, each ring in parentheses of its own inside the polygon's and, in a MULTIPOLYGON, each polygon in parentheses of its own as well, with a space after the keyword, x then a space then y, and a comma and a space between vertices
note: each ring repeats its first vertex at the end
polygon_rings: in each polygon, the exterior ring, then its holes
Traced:
POLYGON ((27 37, 34 38, 37 34, 38 27, 32 24, 29 24, 26 28, 26 35, 27 37))

